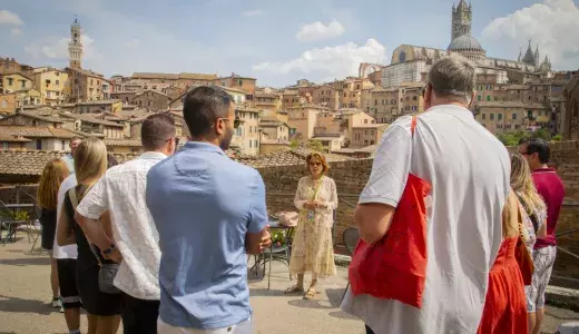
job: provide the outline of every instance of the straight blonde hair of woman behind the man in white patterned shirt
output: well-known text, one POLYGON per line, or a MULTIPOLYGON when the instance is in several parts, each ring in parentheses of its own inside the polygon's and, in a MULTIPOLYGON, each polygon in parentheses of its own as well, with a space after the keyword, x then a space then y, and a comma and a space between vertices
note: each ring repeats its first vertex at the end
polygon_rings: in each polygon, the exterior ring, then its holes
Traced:
POLYGON ((107 171, 107 147, 97 138, 82 140, 75 151, 75 173, 79 185, 92 185, 107 171))

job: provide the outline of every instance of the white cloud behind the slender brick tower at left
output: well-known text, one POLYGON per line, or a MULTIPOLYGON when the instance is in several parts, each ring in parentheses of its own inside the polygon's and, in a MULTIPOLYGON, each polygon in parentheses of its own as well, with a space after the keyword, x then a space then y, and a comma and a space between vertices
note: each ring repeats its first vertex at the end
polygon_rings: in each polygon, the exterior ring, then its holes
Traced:
MULTIPOLYGON (((96 52, 95 40, 88 35, 80 37, 82 42, 82 59, 91 59, 99 57, 96 52)), ((69 38, 50 38, 43 42, 36 42, 24 47, 24 51, 38 60, 66 60, 68 59, 69 38)))

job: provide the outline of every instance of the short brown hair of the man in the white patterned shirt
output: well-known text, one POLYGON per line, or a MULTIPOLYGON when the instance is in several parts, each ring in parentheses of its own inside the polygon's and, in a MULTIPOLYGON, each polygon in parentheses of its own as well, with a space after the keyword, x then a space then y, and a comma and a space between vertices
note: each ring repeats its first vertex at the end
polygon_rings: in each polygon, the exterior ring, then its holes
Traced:
POLYGON ((140 140, 145 150, 161 148, 175 135, 175 118, 168 112, 147 117, 140 127, 140 140))

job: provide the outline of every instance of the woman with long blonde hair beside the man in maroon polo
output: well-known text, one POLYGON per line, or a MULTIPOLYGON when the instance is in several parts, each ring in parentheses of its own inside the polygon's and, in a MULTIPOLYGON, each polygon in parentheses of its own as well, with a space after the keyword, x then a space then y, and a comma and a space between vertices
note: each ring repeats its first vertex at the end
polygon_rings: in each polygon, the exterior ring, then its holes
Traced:
POLYGON ((531 169, 527 159, 520 154, 511 156, 511 187, 519 198, 519 205, 523 217, 526 233, 526 246, 532 254, 534 272, 531 286, 526 286, 527 312, 529 313, 529 333, 539 333, 536 312, 544 305, 544 292, 539 292, 538 286, 546 286, 549 278, 544 274, 550 264, 533 249, 537 237, 547 236, 547 205, 537 193, 531 177, 531 169))

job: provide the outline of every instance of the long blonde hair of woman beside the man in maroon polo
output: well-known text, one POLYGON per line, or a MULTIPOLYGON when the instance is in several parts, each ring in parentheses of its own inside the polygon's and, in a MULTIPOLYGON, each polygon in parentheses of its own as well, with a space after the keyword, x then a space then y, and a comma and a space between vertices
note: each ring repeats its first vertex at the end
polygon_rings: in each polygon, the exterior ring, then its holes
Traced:
POLYGON ((526 209, 534 213, 547 208, 541 195, 537 193, 529 164, 520 154, 511 155, 511 187, 522 198, 521 204, 526 209))

